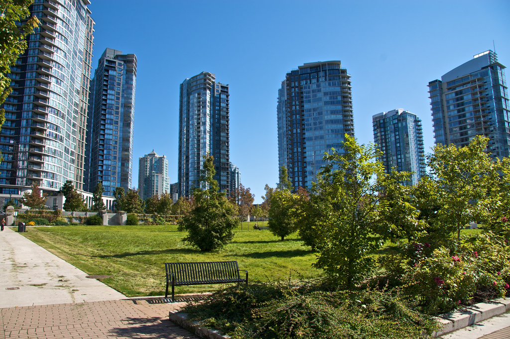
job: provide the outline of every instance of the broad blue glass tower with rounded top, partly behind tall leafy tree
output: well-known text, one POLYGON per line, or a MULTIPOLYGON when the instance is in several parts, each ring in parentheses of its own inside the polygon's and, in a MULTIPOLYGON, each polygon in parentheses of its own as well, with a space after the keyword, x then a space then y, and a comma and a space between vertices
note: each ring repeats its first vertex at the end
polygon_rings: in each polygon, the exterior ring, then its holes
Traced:
POLYGON ((354 135, 350 74, 340 61, 305 63, 278 90, 278 166, 294 189, 312 186, 324 152, 354 135))

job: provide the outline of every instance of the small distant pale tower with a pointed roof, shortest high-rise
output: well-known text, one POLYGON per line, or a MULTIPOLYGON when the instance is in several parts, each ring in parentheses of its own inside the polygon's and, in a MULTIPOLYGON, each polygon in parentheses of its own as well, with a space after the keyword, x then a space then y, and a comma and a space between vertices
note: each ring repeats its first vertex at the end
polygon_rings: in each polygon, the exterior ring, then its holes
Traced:
POLYGON ((154 149, 140 158, 138 167, 138 194, 142 200, 151 196, 170 193, 168 160, 154 149))

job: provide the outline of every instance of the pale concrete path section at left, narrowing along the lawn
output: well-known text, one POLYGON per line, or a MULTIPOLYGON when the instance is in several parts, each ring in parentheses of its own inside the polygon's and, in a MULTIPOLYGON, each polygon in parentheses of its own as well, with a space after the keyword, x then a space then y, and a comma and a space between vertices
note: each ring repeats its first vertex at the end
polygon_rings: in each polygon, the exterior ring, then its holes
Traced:
POLYGON ((0 232, 0 272, 0 308, 126 298, 9 227, 0 232))

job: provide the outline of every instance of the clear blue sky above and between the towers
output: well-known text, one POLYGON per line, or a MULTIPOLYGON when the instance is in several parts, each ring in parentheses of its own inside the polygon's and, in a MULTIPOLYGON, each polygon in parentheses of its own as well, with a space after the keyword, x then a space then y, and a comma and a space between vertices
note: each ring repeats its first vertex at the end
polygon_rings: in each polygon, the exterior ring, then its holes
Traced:
POLYGON ((230 160, 260 203, 278 180, 276 97, 288 71, 341 60, 352 76, 358 141, 373 142, 372 115, 403 108, 422 119, 428 153, 428 82, 493 49, 493 40, 510 66, 507 0, 91 2, 93 68, 107 47, 138 58, 135 187, 138 158, 152 149, 177 181, 179 85, 201 71, 230 85, 230 160))

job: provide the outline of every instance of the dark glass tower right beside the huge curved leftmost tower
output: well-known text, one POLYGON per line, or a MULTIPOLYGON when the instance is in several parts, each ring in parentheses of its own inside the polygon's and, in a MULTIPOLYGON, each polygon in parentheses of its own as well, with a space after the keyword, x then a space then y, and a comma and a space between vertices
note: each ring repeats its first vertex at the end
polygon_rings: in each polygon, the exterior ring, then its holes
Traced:
POLYGON ((127 191, 133 179, 137 59, 134 54, 107 48, 90 83, 87 132, 86 190, 102 182, 104 195, 115 188, 127 191))

